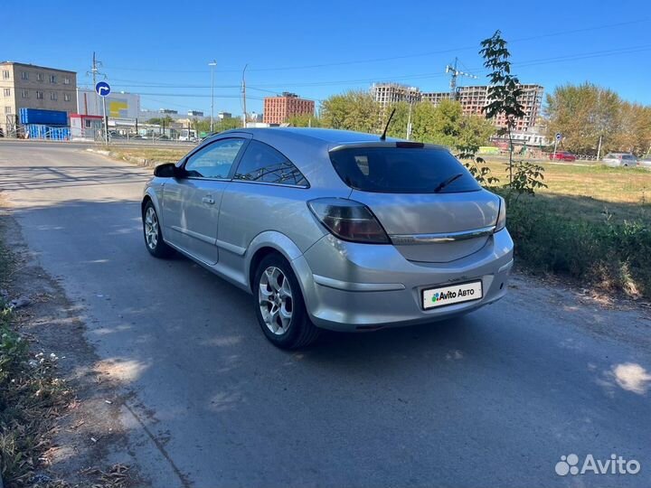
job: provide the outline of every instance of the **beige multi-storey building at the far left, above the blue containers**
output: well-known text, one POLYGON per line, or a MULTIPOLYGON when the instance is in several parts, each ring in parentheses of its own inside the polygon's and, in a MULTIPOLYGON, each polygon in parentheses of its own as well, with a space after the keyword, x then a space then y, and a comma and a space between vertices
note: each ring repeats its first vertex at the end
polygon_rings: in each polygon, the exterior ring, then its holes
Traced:
POLYGON ((77 112, 77 73, 22 62, 0 62, 0 127, 13 130, 20 108, 77 112))

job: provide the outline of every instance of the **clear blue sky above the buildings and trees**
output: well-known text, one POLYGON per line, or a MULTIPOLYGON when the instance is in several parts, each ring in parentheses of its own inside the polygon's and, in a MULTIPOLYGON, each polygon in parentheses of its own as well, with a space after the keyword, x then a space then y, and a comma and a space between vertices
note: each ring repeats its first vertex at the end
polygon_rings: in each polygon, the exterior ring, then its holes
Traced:
POLYGON ((479 77, 460 84, 485 83, 479 42, 501 29, 522 82, 551 91, 589 80, 651 105, 648 0, 96 4, 7 3, 0 58, 76 70, 82 86, 95 51, 113 89, 140 93, 143 108, 206 114, 215 59, 215 112, 241 113, 247 63, 248 108, 257 111, 283 90, 317 100, 373 80, 445 90, 456 56, 479 77))

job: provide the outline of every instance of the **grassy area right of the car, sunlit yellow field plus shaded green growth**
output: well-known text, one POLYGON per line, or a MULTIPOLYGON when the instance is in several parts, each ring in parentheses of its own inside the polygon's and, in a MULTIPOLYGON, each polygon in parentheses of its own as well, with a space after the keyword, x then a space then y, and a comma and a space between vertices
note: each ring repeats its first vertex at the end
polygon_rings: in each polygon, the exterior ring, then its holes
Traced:
MULTIPOLYGON (((487 164, 500 184, 508 182, 504 160, 487 164)), ((548 187, 507 206, 519 262, 605 292, 651 299, 651 171, 538 164, 548 187)))

